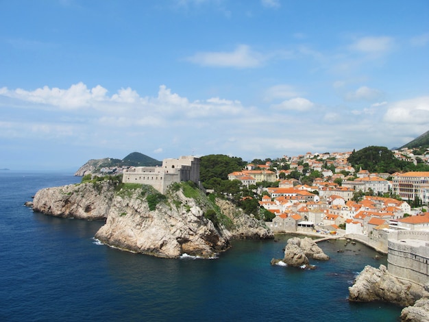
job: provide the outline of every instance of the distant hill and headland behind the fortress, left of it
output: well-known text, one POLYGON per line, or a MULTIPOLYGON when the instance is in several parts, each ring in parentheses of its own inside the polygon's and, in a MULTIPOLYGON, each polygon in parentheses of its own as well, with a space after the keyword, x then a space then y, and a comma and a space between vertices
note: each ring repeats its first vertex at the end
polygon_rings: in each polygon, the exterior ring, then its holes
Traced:
POLYGON ((162 161, 146 156, 143 153, 132 152, 122 160, 114 158, 93 159, 86 162, 75 173, 77 177, 88 174, 120 173, 123 166, 161 166, 162 161))

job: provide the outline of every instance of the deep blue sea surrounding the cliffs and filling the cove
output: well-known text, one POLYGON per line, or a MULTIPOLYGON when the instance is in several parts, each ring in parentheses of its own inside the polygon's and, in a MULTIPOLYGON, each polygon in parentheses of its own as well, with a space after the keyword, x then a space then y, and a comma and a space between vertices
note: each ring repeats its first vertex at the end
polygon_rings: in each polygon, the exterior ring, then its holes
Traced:
POLYGON ((155 258, 99 243, 102 221, 24 206, 80 180, 0 171, 0 321, 399 321, 399 306, 347 300, 365 265, 387 263, 359 243, 319 243, 330 260, 314 270, 270 264, 290 235, 236 240, 213 259, 155 258))

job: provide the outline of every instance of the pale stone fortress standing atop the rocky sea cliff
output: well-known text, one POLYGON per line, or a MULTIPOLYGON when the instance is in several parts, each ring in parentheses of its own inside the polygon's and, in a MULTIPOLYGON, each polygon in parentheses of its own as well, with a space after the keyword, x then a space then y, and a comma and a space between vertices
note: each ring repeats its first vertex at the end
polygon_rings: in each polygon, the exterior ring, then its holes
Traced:
POLYGON ((192 181, 200 186, 199 158, 181 156, 178 159, 164 159, 162 166, 136 166, 123 171, 122 182, 149 184, 160 193, 165 193, 173 182, 192 181))

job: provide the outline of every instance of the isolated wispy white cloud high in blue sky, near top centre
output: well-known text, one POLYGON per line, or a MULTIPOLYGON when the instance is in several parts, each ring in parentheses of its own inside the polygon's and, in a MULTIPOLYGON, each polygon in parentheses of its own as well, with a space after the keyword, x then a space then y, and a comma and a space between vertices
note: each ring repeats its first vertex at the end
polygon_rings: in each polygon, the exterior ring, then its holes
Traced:
POLYGON ((247 45, 238 45, 232 52, 200 52, 188 58, 188 61, 201 66, 235 67, 238 69, 261 66, 266 58, 252 51, 247 45))

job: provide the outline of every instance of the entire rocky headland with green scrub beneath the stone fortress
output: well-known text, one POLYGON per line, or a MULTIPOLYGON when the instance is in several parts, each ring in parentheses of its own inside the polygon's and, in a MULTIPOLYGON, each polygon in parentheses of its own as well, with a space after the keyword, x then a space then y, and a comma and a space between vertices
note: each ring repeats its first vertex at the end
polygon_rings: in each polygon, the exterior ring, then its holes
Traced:
POLYGON ((161 195, 150 186, 103 181, 42 189, 34 210, 106 219, 95 235, 102 243, 165 258, 184 253, 208 258, 228 249, 232 238, 273 238, 263 222, 228 201, 217 203, 184 183, 161 195))

